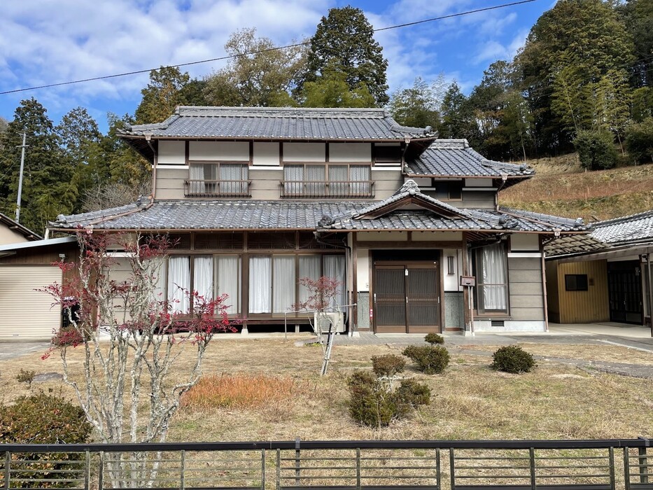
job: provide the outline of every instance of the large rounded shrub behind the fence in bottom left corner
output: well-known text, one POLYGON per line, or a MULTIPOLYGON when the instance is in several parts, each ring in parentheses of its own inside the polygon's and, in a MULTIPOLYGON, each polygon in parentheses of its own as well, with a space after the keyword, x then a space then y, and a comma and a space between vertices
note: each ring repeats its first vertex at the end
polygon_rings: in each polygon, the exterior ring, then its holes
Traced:
MULTIPOLYGON (((91 431, 83 410, 60 396, 38 393, 18 398, 14 405, 0 407, 0 443, 83 443, 88 441, 91 431)), ((17 487, 33 486, 29 479, 66 478, 66 471, 79 470, 79 463, 74 461, 84 457, 83 453, 12 453, 11 464, 15 468, 12 477, 24 480, 16 481, 17 487)), ((41 485, 43 488, 73 486, 65 482, 41 485)))

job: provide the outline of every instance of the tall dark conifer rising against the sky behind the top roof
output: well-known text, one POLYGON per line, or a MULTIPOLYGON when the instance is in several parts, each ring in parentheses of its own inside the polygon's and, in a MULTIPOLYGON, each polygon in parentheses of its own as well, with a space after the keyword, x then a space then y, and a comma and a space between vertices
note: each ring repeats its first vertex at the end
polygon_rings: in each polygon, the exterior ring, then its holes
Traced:
POLYGON ((344 73, 351 92, 363 84, 377 106, 386 105, 388 60, 373 34, 372 25, 360 8, 331 8, 311 38, 304 83, 316 82, 332 71, 339 71, 344 73))

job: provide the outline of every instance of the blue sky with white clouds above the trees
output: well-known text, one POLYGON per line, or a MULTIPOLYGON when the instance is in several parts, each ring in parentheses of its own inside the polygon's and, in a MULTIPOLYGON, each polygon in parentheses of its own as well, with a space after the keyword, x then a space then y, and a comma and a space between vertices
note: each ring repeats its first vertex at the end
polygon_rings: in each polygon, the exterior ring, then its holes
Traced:
MULTIPOLYGON (((514 0, 6 0, 0 2, 0 92, 194 62, 225 54, 233 31, 254 27, 285 45, 309 38, 334 7, 363 10, 374 28, 465 12, 514 0)), ((375 34, 388 59, 391 92, 417 76, 442 74, 469 93, 484 69, 512 59, 555 0, 436 20, 375 34)), ((202 78, 225 62, 183 67, 202 78)), ((148 73, 0 94, 12 120, 34 97, 55 122, 85 107, 106 131, 108 113, 133 114, 148 73)))

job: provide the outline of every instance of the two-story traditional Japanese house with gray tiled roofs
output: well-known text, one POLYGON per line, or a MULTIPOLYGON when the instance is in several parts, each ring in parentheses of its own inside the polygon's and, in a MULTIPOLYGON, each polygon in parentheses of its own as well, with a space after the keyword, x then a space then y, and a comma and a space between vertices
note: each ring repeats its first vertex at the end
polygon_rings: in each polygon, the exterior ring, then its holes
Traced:
POLYGON ((545 331, 543 244, 585 232, 498 206, 530 167, 384 109, 179 107, 121 137, 152 163, 150 199, 51 230, 169 233, 164 294, 188 311, 180 288, 227 293, 245 328, 305 323, 300 279, 330 276, 350 332, 545 331))

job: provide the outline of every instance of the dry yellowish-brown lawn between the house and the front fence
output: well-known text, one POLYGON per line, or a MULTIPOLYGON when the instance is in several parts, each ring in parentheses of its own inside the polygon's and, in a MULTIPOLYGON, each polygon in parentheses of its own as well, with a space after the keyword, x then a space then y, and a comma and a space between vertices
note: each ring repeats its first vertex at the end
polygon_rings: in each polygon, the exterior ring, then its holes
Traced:
MULTIPOLYGON (((547 346, 538 348, 547 349, 547 346)), ((555 347, 559 346, 549 346, 555 347)), ((535 351, 533 346, 527 346, 535 351)), ((571 348, 571 347, 570 347, 571 348)), ((575 347, 574 347, 575 348, 575 347)), ((487 348, 486 348, 487 349, 487 348)), ((578 347, 581 349, 581 347, 578 347)), ((604 355, 603 346, 582 346, 584 354, 604 355)), ((614 354, 618 347, 610 347, 614 354)), ((624 349, 625 350, 625 349, 624 349)), ((630 351, 629 351, 630 352, 630 351)), ((189 350, 190 353, 190 350, 189 350)), ((246 375, 265 382, 265 374, 294 380, 292 389, 269 396, 262 406, 184 407, 171 423, 169 440, 346 440, 346 439, 547 439, 653 436, 653 390, 650 379, 590 374, 572 366, 540 361, 530 374, 489 369, 489 358, 452 351, 442 375, 407 376, 426 382, 431 404, 409 419, 373 430, 349 419, 346 378, 354 369, 371 368, 372 356, 400 353, 391 346, 336 346, 330 373, 319 377, 321 349, 278 339, 213 342, 204 374, 246 375)), ((73 353, 81 367, 81 351, 73 353)), ((556 351, 556 356, 561 352, 556 351)), ((183 358, 190 365, 191 356, 183 358)), ((57 356, 28 355, 0 363, 2 401, 27 393, 15 380, 20 369, 61 372, 57 356)), ((180 367, 183 370, 183 367, 180 367)), ((34 384, 54 388, 59 381, 34 384)), ((284 385, 286 386, 286 385, 284 385)), ((64 388, 64 393, 69 393, 64 388)))

